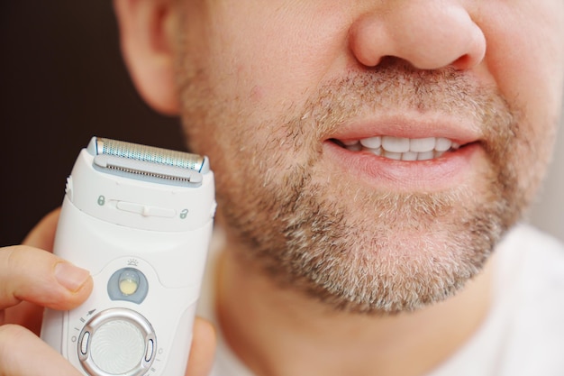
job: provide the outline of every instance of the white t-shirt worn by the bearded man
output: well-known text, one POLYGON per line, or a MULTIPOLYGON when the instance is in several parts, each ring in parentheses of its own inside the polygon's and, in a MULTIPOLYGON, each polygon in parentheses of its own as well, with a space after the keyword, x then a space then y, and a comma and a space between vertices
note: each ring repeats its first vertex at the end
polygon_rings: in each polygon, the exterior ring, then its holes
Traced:
MULTIPOLYGON (((564 246, 519 225, 496 252, 494 305, 486 321, 426 376, 564 376, 564 246)), ((214 321, 211 291, 208 283, 200 316, 214 321)), ((221 334, 212 376, 254 376, 221 334)))

